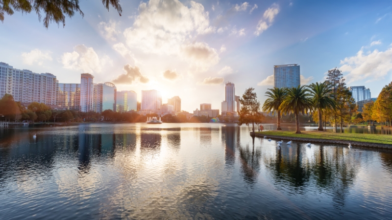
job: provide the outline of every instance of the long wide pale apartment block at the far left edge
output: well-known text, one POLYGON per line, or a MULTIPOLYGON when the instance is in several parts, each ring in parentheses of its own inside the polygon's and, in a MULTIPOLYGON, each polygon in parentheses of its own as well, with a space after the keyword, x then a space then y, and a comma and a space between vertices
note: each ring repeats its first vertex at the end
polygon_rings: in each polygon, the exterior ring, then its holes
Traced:
POLYGON ((56 105, 56 76, 15 69, 0 62, 0 97, 10 94, 17 102, 56 105))

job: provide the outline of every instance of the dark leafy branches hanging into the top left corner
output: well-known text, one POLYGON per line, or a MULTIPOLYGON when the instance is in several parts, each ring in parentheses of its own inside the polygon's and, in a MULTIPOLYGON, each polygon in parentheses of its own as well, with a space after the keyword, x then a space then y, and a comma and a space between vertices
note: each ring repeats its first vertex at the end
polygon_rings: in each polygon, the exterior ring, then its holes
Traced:
MULTIPOLYGON (((120 0, 102 0, 104 7, 109 11, 109 5, 112 5, 119 15, 123 12, 120 0)), ((30 13, 34 11, 38 15, 38 21, 41 22, 44 13, 44 26, 49 27, 49 23, 60 23, 65 26, 65 18, 72 18, 79 13, 82 17, 84 13, 79 8, 79 0, 0 0, 0 21, 4 22, 4 12, 13 15, 14 11, 30 13)))

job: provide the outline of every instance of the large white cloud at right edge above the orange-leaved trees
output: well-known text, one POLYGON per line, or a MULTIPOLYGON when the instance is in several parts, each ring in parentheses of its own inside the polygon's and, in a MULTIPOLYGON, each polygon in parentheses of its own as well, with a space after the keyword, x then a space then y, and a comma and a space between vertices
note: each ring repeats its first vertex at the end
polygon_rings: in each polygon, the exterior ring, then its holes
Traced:
POLYGON ((384 79, 392 70, 392 47, 385 51, 373 50, 365 53, 364 47, 356 56, 341 60, 342 72, 348 72, 345 78, 348 83, 368 79, 368 82, 384 79))

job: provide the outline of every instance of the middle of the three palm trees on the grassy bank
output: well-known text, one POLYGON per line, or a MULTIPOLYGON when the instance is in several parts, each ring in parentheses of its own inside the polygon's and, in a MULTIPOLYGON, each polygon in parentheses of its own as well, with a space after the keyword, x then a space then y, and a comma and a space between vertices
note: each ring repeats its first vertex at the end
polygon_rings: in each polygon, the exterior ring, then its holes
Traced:
POLYGON ((312 99, 309 97, 309 89, 305 86, 288 88, 280 110, 284 113, 294 113, 295 116, 295 133, 301 133, 299 130, 299 113, 305 114, 313 108, 312 99))

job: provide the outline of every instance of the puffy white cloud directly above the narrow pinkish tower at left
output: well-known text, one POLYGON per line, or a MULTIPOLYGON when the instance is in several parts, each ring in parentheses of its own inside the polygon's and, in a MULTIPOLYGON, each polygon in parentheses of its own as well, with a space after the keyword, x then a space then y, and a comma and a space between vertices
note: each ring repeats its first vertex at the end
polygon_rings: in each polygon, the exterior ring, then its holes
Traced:
POLYGON ((93 47, 79 44, 73 47, 73 50, 71 53, 63 53, 61 62, 64 68, 94 73, 101 72, 106 65, 113 65, 113 61, 107 55, 99 57, 93 47))

